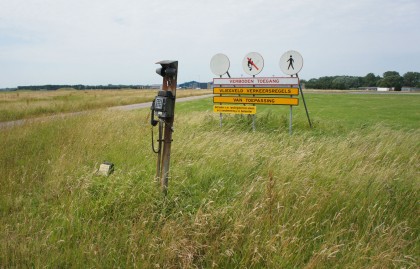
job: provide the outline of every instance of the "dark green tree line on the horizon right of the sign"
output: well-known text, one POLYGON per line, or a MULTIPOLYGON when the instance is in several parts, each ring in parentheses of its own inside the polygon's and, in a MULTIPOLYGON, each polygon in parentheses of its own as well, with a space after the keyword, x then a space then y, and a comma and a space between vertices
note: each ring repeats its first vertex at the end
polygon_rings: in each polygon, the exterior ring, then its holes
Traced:
POLYGON ((369 73, 364 77, 357 76, 330 76, 301 80, 308 89, 357 89, 361 87, 394 88, 401 91, 402 87, 420 88, 420 73, 407 72, 401 76, 396 71, 387 71, 382 77, 369 73))

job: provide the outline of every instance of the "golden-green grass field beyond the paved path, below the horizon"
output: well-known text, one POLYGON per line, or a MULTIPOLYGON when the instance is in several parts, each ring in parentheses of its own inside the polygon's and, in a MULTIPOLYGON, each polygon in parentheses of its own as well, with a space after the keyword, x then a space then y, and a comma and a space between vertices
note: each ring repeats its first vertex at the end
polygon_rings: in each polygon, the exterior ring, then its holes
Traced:
MULTIPOLYGON (((0 122, 150 102, 157 90, 74 90, 0 92, 0 122)), ((179 90, 177 97, 209 94, 179 90)))

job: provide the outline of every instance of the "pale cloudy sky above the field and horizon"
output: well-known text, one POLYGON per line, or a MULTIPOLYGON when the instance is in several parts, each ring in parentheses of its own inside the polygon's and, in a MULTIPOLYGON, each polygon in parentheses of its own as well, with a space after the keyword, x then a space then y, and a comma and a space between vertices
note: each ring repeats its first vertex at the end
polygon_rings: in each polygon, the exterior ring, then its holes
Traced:
POLYGON ((0 0, 0 88, 45 84, 159 84, 156 62, 178 60, 178 83, 211 81, 210 60, 248 76, 420 72, 420 0, 0 0))

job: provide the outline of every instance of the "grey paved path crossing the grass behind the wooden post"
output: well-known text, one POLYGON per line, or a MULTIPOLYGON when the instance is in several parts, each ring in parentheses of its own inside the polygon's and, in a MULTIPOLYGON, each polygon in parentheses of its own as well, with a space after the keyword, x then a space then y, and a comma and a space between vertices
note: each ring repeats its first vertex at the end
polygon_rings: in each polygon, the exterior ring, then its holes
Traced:
MULTIPOLYGON (((211 97, 211 96, 213 96, 213 94, 177 98, 176 102, 177 103, 187 102, 187 101, 203 99, 203 98, 207 98, 207 97, 211 97)), ((150 108, 151 106, 152 106, 152 102, 147 102, 147 103, 141 103, 141 104, 125 105, 125 106, 114 106, 114 107, 110 107, 108 109, 109 110, 129 111, 129 110, 140 109, 140 108, 150 108)), ((46 120, 49 120, 49 119, 52 119, 52 118, 67 118, 67 117, 70 117, 70 116, 86 114, 88 112, 90 112, 90 111, 69 112, 69 113, 62 113, 62 114, 57 114, 57 115, 52 115, 52 116, 44 116, 44 117, 38 117, 38 118, 32 118, 32 119, 5 121, 5 122, 0 122, 0 129, 11 128, 11 127, 23 125, 23 124, 29 123, 29 122, 43 122, 43 121, 46 121, 46 120)))

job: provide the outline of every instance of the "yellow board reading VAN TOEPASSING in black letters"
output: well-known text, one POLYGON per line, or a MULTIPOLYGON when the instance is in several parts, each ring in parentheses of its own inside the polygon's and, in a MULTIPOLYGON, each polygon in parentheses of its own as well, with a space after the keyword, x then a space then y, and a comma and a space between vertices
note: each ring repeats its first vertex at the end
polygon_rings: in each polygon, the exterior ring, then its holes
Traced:
POLYGON ((299 105, 298 98, 282 97, 236 97, 236 96, 214 96, 213 103, 231 104, 258 104, 258 105, 299 105))

